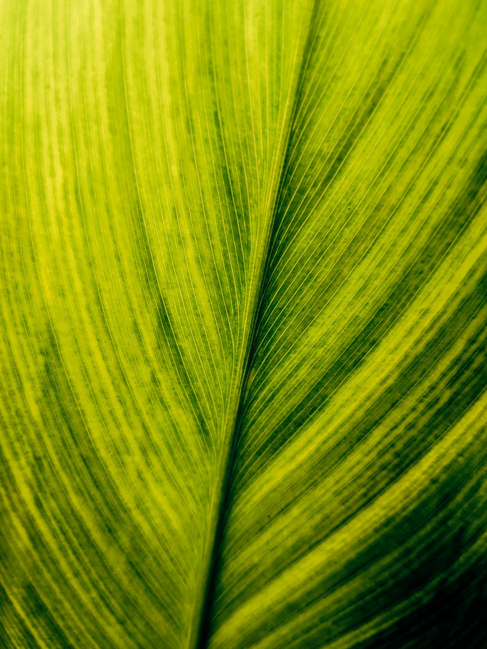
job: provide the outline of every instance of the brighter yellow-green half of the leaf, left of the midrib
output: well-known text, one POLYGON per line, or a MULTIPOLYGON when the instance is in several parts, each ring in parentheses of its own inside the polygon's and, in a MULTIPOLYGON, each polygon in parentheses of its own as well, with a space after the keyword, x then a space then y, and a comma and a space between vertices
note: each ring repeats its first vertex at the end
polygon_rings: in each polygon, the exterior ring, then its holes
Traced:
POLYGON ((189 646, 310 9, 0 11, 2 641, 189 646))

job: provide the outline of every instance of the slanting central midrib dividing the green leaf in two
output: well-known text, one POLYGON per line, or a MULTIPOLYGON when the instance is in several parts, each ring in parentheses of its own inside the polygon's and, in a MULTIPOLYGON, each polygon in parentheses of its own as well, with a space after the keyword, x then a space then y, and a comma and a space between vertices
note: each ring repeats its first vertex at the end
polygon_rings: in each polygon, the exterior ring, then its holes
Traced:
MULTIPOLYGON (((298 71, 293 81, 294 87, 288 94, 288 101, 292 105, 286 108, 284 114, 279 154, 275 158, 275 164, 270 173, 271 181, 269 182, 268 201, 265 210, 265 213, 269 214, 268 219, 266 219, 268 223, 267 232, 264 237, 264 243, 262 244, 262 254, 258 255, 261 259, 260 264, 252 273, 252 276, 257 278, 254 282, 256 288, 249 295, 249 306, 247 308, 246 317, 243 319, 244 327, 246 322, 249 322, 249 325, 247 332, 245 332, 243 336, 245 347, 242 350, 238 363, 238 371, 235 380, 236 387, 231 391, 234 391, 235 393, 234 403, 227 410, 227 419, 223 427, 225 430, 223 435, 225 446, 221 452, 219 458, 220 463, 217 470, 219 484, 215 485, 212 493, 208 543, 204 553, 205 560, 203 561, 203 578, 199 587, 199 597, 197 598, 192 622, 190 624, 188 638, 189 648, 194 647, 195 649, 205 649, 208 646, 211 637, 210 613, 214 604, 216 581, 219 572, 219 548, 221 547, 221 543, 225 536, 226 515, 231 502, 232 470, 234 467, 236 448, 241 434, 241 414, 245 405, 245 394, 253 365, 253 351, 255 350, 260 319, 262 317, 262 304, 267 285, 266 280, 271 269, 271 252, 273 250, 271 242, 276 227, 279 198, 283 182, 286 178, 286 162, 290 151, 291 134, 297 116, 297 108, 299 107, 301 84, 308 64, 308 56, 306 55, 310 51, 308 45, 312 39, 312 26, 316 19, 317 10, 318 0, 314 0, 312 9, 308 15, 308 25, 305 30, 305 38, 303 38, 303 47, 300 53, 301 60, 295 62, 298 71)), ((293 66, 294 69, 295 66, 293 66)))

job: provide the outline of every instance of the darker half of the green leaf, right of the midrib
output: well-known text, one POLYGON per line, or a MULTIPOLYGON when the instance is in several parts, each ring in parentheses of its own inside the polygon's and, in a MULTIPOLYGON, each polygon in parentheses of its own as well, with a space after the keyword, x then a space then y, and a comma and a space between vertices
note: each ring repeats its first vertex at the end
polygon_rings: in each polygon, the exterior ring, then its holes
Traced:
POLYGON ((485 13, 319 12, 212 647, 486 642, 485 13))

